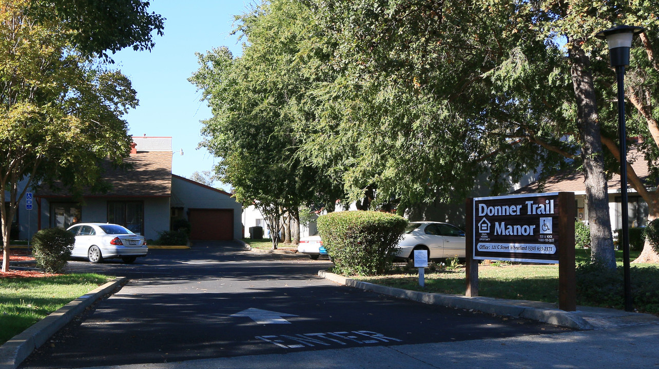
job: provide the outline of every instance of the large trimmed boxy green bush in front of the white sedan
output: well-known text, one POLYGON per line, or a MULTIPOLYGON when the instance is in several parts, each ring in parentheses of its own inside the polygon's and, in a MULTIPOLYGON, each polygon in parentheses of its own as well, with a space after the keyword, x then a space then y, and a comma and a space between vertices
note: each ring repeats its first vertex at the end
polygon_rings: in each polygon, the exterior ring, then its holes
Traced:
POLYGON ((317 224, 335 272, 374 276, 391 269, 407 220, 385 212, 345 211, 321 216, 317 224))

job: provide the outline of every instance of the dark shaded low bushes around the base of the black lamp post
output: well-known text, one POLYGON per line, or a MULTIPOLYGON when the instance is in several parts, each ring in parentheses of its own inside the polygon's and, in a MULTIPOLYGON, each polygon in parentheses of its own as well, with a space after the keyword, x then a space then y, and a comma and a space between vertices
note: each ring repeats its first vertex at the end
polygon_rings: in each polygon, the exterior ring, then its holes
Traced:
MULTIPOLYGON (((659 268, 630 268, 633 305, 641 312, 659 313, 659 268)), ((624 303, 623 269, 606 270, 596 263, 577 268, 577 303, 622 309, 624 303)))

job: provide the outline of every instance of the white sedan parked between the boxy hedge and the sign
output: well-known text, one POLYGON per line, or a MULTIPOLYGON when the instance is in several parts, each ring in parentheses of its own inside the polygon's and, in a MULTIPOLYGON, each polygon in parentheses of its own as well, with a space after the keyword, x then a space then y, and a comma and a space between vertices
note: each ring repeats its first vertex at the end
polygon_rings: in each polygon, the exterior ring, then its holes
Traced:
POLYGON ((428 259, 465 257, 465 232, 448 223, 410 222, 398 244, 397 257, 413 260, 415 250, 425 250, 428 259))

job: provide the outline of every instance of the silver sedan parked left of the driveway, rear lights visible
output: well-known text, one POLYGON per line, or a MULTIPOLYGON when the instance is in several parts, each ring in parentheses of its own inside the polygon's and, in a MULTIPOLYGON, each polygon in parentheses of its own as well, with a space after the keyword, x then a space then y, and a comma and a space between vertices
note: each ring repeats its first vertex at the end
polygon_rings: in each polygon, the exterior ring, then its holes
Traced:
POLYGON ((87 258, 93 263, 103 262, 104 258, 121 258, 130 263, 145 257, 148 251, 144 236, 118 224, 78 223, 68 231, 76 237, 71 257, 87 258))

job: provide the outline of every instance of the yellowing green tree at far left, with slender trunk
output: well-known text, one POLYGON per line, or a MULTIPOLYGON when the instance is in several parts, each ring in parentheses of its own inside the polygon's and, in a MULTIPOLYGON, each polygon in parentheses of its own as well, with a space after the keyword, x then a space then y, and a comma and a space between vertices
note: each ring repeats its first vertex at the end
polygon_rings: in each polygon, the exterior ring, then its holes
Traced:
POLYGON ((0 207, 3 272, 11 220, 27 189, 55 181, 74 192, 99 188, 100 161, 121 164, 129 155, 121 115, 138 103, 128 78, 80 52, 65 22, 36 18, 33 6, 0 5, 0 203, 9 203, 0 207))

